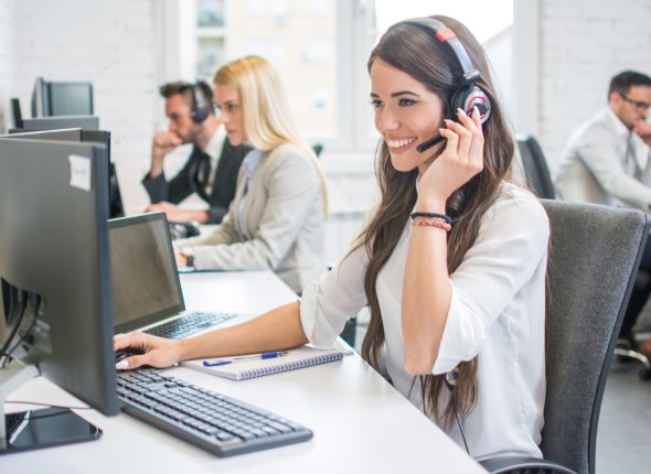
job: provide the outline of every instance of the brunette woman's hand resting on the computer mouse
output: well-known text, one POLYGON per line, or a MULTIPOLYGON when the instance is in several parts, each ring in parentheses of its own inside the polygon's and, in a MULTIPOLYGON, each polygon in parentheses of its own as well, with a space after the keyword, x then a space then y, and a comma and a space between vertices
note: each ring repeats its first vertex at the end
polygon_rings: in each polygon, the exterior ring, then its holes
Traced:
POLYGON ((138 332, 116 336, 113 338, 114 351, 132 348, 142 352, 141 355, 134 355, 120 360, 116 368, 131 369, 143 365, 162 368, 174 365, 181 359, 178 343, 178 341, 138 332))

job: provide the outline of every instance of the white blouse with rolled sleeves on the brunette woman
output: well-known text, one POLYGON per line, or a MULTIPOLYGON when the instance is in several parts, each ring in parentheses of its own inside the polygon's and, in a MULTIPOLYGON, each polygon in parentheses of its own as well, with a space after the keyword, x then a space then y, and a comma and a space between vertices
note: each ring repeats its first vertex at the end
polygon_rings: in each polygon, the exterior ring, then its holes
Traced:
MULTIPOLYGON (((404 369, 401 301, 409 233, 407 225, 376 286, 386 370, 395 388, 423 409, 420 385, 409 390, 412 376, 404 369)), ((450 276, 452 298, 433 374, 445 374, 478 356, 477 405, 461 423, 476 459, 542 456, 548 237, 547 215, 538 201, 504 183, 481 219, 474 245, 450 276)), ((330 347, 346 319, 367 304, 367 260, 360 248, 303 290, 300 314, 312 344, 330 347)), ((463 448, 457 423, 448 434, 463 448)))

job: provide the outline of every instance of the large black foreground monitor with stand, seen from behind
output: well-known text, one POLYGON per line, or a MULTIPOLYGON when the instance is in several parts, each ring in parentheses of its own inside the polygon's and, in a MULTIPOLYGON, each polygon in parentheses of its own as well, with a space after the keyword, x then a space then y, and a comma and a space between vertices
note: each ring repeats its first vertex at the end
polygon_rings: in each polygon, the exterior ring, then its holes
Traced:
MULTIPOLYGON (((107 416, 118 412, 107 161, 98 143, 0 138, 1 421, 4 397, 34 373, 107 416)), ((100 434, 70 410, 7 421, 0 453, 100 434)))

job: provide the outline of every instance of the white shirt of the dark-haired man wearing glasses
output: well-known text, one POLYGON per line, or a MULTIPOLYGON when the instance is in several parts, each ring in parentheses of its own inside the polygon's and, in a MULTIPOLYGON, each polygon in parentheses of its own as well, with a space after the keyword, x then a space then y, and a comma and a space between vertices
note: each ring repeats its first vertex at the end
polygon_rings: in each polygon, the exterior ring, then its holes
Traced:
POLYGON ((637 207, 651 205, 649 147, 609 108, 569 138, 556 174, 565 201, 637 207))

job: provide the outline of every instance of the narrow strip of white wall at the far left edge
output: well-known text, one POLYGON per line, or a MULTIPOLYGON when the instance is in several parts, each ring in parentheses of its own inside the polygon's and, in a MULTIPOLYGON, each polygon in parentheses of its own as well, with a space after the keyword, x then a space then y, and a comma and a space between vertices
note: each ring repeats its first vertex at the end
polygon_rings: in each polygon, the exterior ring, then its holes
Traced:
POLYGON ((9 99, 15 89, 15 4, 17 0, 0 0, 0 131, 13 123, 9 99))

